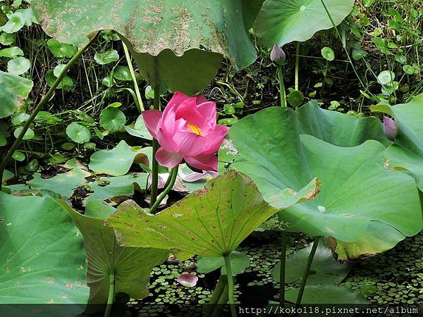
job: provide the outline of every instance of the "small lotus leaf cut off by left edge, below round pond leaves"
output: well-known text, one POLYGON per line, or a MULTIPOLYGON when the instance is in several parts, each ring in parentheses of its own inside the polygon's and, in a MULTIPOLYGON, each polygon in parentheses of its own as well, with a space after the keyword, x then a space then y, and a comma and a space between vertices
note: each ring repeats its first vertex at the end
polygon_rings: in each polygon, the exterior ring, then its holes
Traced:
POLYGON ((0 118, 10 116, 27 99, 32 85, 32 80, 0 70, 0 118))

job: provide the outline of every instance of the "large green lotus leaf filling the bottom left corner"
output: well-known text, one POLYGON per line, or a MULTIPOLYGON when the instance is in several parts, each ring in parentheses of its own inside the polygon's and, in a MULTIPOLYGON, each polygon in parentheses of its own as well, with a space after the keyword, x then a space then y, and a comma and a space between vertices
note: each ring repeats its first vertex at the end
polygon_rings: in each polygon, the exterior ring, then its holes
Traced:
POLYGON ((0 192, 0 250, 1 304, 87 302, 82 237, 54 199, 0 192))

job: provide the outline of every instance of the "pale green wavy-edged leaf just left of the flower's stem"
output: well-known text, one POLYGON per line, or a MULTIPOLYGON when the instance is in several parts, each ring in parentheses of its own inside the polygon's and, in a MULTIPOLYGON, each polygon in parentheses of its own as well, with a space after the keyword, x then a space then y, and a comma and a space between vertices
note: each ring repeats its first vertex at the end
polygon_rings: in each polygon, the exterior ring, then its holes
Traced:
POLYGON ((125 175, 137 156, 147 157, 146 154, 143 154, 143 150, 130 147, 122 140, 114 149, 100 150, 92 154, 90 169, 97 174, 125 175))

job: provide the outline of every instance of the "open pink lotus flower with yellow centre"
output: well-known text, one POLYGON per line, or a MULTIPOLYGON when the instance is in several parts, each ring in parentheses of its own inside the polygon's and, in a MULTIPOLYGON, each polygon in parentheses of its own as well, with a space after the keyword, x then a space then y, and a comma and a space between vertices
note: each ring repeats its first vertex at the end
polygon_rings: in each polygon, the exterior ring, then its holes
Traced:
POLYGON ((161 166, 173 168, 185 159, 193 168, 217 170, 215 154, 228 128, 216 125, 214 101, 176 92, 163 112, 144 111, 142 118, 161 146, 156 154, 161 166))

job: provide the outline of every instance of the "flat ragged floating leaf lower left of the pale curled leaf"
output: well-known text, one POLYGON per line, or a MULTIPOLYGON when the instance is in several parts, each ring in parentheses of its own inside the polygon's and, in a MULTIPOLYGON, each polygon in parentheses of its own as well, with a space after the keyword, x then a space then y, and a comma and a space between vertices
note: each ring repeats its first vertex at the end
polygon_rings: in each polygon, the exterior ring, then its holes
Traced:
POLYGON ((53 178, 42 178, 39 173, 36 173, 27 184, 31 189, 47 189, 60 194, 61 197, 69 198, 91 173, 76 159, 67 161, 63 168, 66 169, 66 172, 59 173, 53 178))

